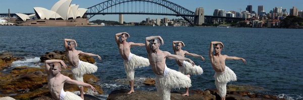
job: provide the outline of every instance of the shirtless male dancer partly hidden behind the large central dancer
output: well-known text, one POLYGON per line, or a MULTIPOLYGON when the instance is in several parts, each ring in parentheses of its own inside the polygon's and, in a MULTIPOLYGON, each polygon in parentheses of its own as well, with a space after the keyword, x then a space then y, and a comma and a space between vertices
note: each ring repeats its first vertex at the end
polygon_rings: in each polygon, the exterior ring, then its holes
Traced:
MULTIPOLYGON (((205 61, 203 56, 194 54, 194 53, 189 53, 185 50, 182 50, 182 47, 184 47, 185 44, 182 41, 173 41, 173 50, 175 52, 175 55, 179 55, 182 57, 185 57, 185 55, 193 56, 193 57, 200 57, 203 61, 205 61)), ((190 75, 200 75, 203 73, 203 69, 200 66, 192 66, 191 63, 184 61, 184 60, 176 60, 177 64, 179 65, 179 71, 188 77, 190 75)), ((183 96, 188 96, 189 93, 189 88, 186 87, 186 92, 182 94, 183 96)))

